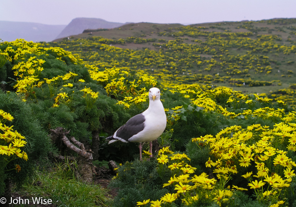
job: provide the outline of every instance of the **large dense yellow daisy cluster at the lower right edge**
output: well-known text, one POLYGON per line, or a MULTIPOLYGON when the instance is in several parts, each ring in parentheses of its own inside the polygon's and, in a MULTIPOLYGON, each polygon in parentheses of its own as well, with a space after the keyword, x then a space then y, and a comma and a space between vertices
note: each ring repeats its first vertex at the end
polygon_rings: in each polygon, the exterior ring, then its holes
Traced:
MULTIPOLYGON (((273 129, 260 124, 227 127, 216 137, 212 135, 193 138, 198 147, 211 149, 206 167, 215 168, 218 179, 229 180, 240 171, 253 169, 242 175, 254 189, 261 202, 275 204, 284 188, 290 186, 295 176, 296 163, 287 156, 288 151, 296 151, 296 125, 294 123, 275 124, 273 129), (255 168, 253 167, 255 166, 255 168), (254 169, 256 171, 254 172, 254 169)), ((233 186, 247 190, 246 186, 233 186)))

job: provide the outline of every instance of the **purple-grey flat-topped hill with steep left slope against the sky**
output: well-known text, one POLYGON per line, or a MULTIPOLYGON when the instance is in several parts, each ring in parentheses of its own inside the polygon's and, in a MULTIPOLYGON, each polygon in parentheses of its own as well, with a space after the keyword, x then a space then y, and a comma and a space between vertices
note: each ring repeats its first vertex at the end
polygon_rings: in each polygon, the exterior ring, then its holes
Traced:
POLYGON ((68 37, 70 35, 78 35, 86 29, 110 29, 124 24, 126 23, 109 22, 98 18, 75 18, 55 39, 68 37))

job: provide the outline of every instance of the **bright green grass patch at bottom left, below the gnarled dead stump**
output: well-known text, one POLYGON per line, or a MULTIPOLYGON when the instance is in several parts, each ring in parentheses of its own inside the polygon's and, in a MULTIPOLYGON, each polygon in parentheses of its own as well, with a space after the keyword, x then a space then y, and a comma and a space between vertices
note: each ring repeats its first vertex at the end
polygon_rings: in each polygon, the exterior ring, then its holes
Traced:
MULTIPOLYGON (((87 184, 75 179, 71 164, 56 164, 52 171, 36 172, 31 185, 24 186, 21 194, 51 199, 57 207, 107 206, 107 191, 99 185, 87 184)), ((31 199, 30 199, 31 200, 31 199)))

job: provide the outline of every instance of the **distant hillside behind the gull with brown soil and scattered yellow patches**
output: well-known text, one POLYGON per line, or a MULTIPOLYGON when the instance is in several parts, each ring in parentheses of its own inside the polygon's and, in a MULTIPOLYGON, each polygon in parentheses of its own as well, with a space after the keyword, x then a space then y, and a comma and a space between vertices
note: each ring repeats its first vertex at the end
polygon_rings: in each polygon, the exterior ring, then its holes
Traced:
POLYGON ((295 28, 296 19, 190 26, 136 23, 89 30, 49 45, 78 54, 85 63, 102 69, 141 69, 156 77, 165 74, 166 82, 260 93, 295 82, 295 28))

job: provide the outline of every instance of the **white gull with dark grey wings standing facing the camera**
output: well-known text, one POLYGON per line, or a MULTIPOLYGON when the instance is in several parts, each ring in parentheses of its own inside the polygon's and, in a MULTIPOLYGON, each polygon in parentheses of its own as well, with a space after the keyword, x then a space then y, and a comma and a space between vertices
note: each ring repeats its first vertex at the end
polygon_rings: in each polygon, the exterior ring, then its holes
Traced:
POLYGON ((142 142, 149 142, 150 157, 152 157, 152 141, 157 139, 165 130, 166 115, 165 109, 160 101, 160 90, 149 89, 149 107, 141 114, 131 117, 127 123, 121 126, 116 132, 107 137, 108 144, 122 141, 139 142, 140 160, 142 160, 142 142))

